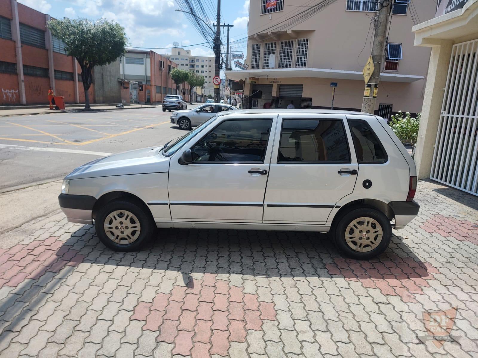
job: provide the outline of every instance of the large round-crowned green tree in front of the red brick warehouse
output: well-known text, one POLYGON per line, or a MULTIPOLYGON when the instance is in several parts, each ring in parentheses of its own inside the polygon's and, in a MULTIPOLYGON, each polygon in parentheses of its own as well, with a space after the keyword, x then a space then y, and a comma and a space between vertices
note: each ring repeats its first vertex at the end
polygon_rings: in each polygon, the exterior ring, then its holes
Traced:
POLYGON ((66 54, 78 61, 85 90, 85 110, 89 110, 88 90, 91 87, 93 68, 112 63, 125 52, 127 39, 124 28, 114 21, 80 18, 53 19, 48 21, 47 26, 53 36, 65 42, 66 54))

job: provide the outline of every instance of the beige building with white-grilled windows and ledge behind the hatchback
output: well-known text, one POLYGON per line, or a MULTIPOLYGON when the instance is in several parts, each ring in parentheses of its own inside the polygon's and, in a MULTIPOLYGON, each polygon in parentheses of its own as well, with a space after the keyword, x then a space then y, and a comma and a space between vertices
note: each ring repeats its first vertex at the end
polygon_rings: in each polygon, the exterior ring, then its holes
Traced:
MULTIPOLYGON (((247 70, 226 71, 244 81, 244 108, 360 110, 362 70, 371 52, 375 0, 336 0, 316 11, 308 0, 250 0, 247 70), (314 15, 304 19, 307 11, 314 15), (302 14, 302 16, 298 16, 302 14), (296 16, 297 15, 297 16, 296 16)), ((429 48, 413 46, 411 31, 435 16, 435 0, 395 0, 381 63, 376 113, 420 112, 429 48)))

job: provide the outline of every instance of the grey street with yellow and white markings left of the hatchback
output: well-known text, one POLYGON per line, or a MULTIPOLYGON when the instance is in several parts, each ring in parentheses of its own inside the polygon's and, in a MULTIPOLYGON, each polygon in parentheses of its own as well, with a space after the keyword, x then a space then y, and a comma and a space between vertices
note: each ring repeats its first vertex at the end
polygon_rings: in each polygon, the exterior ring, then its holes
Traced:
POLYGON ((170 116, 156 107, 0 117, 0 234, 59 211, 61 180, 74 168, 183 136, 170 116))

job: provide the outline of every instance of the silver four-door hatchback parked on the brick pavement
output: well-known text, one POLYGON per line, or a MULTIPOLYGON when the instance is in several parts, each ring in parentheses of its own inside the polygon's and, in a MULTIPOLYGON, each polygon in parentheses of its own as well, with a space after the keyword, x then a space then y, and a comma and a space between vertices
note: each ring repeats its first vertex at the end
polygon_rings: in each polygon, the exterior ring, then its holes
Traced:
POLYGON ((153 228, 331 232, 369 259, 418 213, 412 158, 385 121, 326 110, 219 113, 161 147, 76 168, 59 202, 119 251, 153 228))

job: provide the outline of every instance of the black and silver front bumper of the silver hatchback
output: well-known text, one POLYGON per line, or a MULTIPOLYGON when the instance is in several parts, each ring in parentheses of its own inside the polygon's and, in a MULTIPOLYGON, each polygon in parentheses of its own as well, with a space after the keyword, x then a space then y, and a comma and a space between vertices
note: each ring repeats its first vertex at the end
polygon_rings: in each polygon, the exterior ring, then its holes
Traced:
POLYGON ((92 214, 96 198, 89 195, 60 194, 58 196, 60 208, 69 222, 93 224, 92 214))

